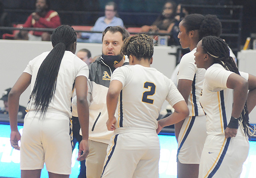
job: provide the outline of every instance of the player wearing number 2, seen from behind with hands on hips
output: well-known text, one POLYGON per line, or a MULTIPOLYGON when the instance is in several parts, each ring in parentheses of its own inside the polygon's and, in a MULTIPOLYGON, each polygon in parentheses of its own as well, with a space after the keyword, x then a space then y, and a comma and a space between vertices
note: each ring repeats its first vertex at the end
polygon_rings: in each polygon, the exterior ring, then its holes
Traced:
POLYGON ((189 109, 172 80, 150 68, 154 52, 151 37, 146 34, 128 37, 121 51, 129 57, 130 65, 117 68, 111 76, 107 127, 114 130, 114 135, 108 145, 102 177, 158 178, 157 133, 185 119, 189 109), (175 112, 157 122, 165 100, 175 112), (116 108, 119 113, 115 117, 116 108), (120 160, 122 164, 117 164, 120 160))

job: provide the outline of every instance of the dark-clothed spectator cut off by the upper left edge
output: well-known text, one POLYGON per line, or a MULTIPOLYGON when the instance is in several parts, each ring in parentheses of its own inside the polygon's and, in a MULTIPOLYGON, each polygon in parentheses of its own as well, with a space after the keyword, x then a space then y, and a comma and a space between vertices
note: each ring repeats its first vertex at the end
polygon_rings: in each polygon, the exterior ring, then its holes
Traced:
MULTIPOLYGON (((2 0, 0 0, 0 27, 11 27, 12 23, 8 14, 4 11, 4 6, 2 0)), ((2 39, 3 34, 11 34, 10 30, 0 30, 0 39, 2 39)))

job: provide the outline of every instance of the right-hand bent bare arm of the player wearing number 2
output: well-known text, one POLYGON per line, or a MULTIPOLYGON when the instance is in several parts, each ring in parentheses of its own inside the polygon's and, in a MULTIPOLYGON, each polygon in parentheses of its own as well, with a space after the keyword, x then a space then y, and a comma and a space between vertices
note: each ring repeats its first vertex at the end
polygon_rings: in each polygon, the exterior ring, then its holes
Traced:
POLYGON ((163 127, 176 124, 189 116, 189 108, 185 101, 177 102, 173 108, 175 109, 174 113, 158 121, 157 134, 160 133, 163 127))

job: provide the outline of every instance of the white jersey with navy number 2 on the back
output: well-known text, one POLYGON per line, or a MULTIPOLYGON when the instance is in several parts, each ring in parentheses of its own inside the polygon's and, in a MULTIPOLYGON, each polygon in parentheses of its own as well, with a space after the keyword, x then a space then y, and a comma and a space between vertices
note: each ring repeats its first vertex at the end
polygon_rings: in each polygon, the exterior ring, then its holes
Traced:
POLYGON ((163 102, 170 105, 183 101, 171 79, 155 68, 125 65, 117 68, 112 80, 122 82, 115 127, 157 129, 157 118, 163 102))

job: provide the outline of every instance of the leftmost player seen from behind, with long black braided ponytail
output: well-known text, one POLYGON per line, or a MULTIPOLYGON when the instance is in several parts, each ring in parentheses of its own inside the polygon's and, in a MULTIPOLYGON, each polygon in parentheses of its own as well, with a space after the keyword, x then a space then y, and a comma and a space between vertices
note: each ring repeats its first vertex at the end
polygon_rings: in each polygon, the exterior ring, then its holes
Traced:
POLYGON ((89 69, 75 55, 76 31, 69 25, 61 25, 53 31, 51 41, 52 51, 44 52, 29 62, 8 97, 12 131, 10 141, 13 148, 20 149, 21 178, 40 178, 44 163, 49 178, 69 177, 72 157, 70 108, 74 86, 83 133, 78 160, 84 160, 89 152, 89 69), (19 98, 30 84, 32 92, 20 140, 17 129, 19 98))

